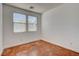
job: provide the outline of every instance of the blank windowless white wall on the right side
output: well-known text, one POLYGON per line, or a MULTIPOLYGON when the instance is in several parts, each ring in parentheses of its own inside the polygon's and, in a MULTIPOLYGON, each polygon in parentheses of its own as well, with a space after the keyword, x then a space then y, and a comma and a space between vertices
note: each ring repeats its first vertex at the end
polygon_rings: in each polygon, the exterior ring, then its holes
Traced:
POLYGON ((63 4, 42 16, 43 38, 79 52, 79 4, 63 4))

